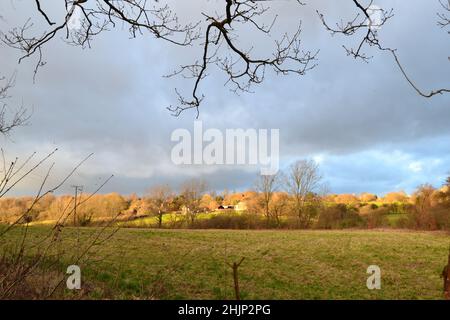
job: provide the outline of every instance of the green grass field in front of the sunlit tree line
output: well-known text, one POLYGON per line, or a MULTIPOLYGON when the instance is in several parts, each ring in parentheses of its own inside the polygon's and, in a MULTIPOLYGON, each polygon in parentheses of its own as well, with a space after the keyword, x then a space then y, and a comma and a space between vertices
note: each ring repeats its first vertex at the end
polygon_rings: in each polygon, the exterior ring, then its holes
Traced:
MULTIPOLYGON (((48 230, 31 227, 30 242, 48 230)), ((81 228, 81 239, 95 230, 81 228)), ((66 257, 76 234, 63 231, 66 257)), ((17 236, 16 230, 1 245, 17 236)), ((81 269, 83 281, 97 287, 91 298, 146 298, 157 283, 160 299, 232 299, 226 262, 245 257, 239 269, 244 299, 441 299, 449 245, 448 234, 393 230, 120 229, 81 269), (366 287, 369 265, 381 268, 381 290, 366 287)))

